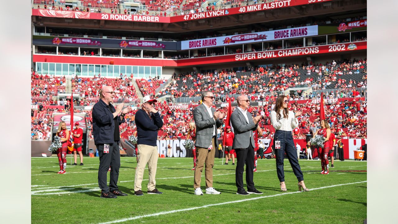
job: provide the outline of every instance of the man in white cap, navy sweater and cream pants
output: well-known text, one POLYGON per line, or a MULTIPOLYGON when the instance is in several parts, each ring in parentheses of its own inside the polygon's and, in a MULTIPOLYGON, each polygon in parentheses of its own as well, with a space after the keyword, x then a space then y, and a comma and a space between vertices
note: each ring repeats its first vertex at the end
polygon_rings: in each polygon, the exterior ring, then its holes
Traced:
POLYGON ((156 140, 158 139, 158 130, 162 128, 163 121, 160 114, 153 107, 158 100, 152 99, 151 96, 144 96, 142 100, 142 108, 135 113, 135 123, 137 125, 137 169, 134 179, 134 194, 137 196, 144 195, 141 189, 144 169, 148 164, 149 182, 148 194, 162 194, 156 189, 156 168, 158 165, 158 147, 156 140))

